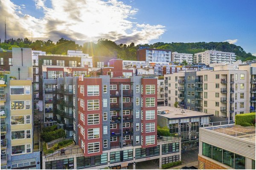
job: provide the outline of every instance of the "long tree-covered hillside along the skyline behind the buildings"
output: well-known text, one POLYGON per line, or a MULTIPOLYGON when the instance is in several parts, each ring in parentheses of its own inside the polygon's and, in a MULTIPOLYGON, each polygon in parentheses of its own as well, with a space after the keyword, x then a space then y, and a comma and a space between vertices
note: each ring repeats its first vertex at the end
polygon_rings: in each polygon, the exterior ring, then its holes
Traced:
POLYGON ((145 46, 149 48, 158 48, 177 51, 179 53, 189 53, 195 54, 198 52, 206 50, 218 50, 225 52, 233 52, 237 55, 237 59, 242 61, 256 59, 250 53, 246 53, 243 48, 235 44, 230 44, 228 42, 157 42, 151 45, 134 45, 132 42, 129 45, 119 44, 108 39, 99 39, 97 43, 86 42, 83 46, 76 44, 75 41, 66 40, 61 38, 55 44, 52 40, 42 41, 36 40, 31 42, 28 38, 24 40, 21 38, 9 39, 6 42, 0 43, 0 48, 3 49, 12 49, 12 47, 24 47, 32 48, 33 50, 46 51, 47 54, 67 54, 67 50, 82 50, 84 53, 89 54, 90 56, 109 56, 109 57, 118 57, 125 60, 137 60, 136 51, 140 46, 145 46))

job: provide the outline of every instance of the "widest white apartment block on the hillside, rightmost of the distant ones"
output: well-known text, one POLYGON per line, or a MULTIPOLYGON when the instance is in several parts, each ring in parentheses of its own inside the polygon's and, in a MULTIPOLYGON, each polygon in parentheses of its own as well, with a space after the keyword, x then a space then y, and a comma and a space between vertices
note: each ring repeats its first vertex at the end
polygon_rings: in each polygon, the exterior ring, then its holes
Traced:
POLYGON ((201 53, 196 53, 194 56, 194 63, 204 63, 206 65, 212 63, 234 63, 236 61, 235 53, 207 50, 201 53))

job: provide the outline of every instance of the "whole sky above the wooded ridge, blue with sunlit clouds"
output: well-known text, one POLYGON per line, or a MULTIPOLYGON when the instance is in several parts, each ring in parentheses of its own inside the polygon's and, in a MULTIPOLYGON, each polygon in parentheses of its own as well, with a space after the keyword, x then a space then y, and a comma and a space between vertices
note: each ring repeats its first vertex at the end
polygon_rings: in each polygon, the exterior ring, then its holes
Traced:
POLYGON ((256 56, 256 0, 0 0, 0 38, 230 42, 256 56))

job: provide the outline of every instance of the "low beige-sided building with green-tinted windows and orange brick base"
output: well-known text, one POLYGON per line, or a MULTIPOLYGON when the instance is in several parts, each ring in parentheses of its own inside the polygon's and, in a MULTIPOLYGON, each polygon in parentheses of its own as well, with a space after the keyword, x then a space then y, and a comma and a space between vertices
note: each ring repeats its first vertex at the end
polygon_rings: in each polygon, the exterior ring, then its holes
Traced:
POLYGON ((198 169, 255 169, 255 128, 200 128, 198 169))

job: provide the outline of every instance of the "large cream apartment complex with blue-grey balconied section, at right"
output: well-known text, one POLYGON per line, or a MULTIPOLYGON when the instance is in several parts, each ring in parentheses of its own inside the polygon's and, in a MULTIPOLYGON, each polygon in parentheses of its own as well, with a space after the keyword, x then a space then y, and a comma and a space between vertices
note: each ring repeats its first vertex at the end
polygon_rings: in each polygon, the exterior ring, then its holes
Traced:
POLYGON ((256 63, 215 66, 214 71, 186 71, 165 75, 165 105, 211 113, 234 120, 255 111, 256 63))

